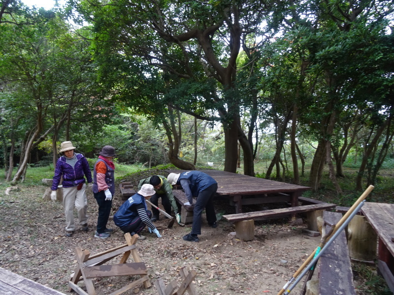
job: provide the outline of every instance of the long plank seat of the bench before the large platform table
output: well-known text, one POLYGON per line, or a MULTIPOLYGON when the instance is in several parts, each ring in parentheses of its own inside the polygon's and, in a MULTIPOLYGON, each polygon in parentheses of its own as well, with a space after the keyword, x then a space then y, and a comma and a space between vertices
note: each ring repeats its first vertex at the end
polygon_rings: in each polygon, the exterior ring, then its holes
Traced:
POLYGON ((227 219, 230 222, 237 222, 242 220, 264 220, 270 218, 280 218, 283 216, 287 216, 290 214, 295 213, 302 213, 314 210, 323 210, 323 209, 330 209, 334 208, 335 204, 316 204, 316 205, 305 205, 305 206, 298 206, 298 207, 288 207, 288 208, 280 208, 280 209, 272 209, 272 210, 264 210, 264 211, 255 211, 255 212, 248 212, 248 213, 239 213, 239 214, 229 214, 223 215, 223 218, 227 219))

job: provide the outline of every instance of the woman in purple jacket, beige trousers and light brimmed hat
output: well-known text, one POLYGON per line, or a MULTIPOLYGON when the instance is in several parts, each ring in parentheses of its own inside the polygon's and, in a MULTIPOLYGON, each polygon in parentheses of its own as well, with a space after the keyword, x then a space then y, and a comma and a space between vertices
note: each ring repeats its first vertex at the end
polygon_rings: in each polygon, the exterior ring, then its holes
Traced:
POLYGON ((63 142, 60 147, 60 152, 63 152, 55 168, 55 176, 53 177, 51 199, 56 200, 56 190, 63 176, 63 207, 66 215, 66 236, 72 236, 75 231, 74 224, 74 205, 78 211, 79 224, 84 232, 88 228, 88 216, 86 211, 88 208, 88 201, 86 199, 86 184, 85 178, 88 180, 90 189, 93 187, 92 173, 88 160, 83 154, 75 153, 75 147, 70 141, 63 142))

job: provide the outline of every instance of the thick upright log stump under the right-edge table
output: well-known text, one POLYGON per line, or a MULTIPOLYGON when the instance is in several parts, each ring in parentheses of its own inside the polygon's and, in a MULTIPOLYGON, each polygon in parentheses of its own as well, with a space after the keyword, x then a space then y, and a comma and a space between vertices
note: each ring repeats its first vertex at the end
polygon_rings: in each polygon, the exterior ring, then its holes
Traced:
POLYGON ((356 215, 348 226, 349 255, 351 258, 371 261, 376 258, 377 234, 365 216, 356 215))

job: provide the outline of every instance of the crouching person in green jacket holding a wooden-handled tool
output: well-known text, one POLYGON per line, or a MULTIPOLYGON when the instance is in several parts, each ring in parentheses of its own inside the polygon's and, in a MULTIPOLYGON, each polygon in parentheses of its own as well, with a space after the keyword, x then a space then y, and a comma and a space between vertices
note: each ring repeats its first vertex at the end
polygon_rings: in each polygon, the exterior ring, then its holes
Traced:
MULTIPOLYGON (((159 198, 162 198, 162 205, 165 212, 171 215, 171 207, 174 210, 176 221, 181 222, 181 215, 178 213, 178 207, 172 194, 172 186, 168 183, 167 178, 161 175, 154 175, 139 181, 138 190, 143 184, 152 184, 155 189, 155 194, 150 198, 150 202, 156 207, 159 207, 159 198)), ((159 220, 159 210, 152 207, 152 222, 159 220)))

